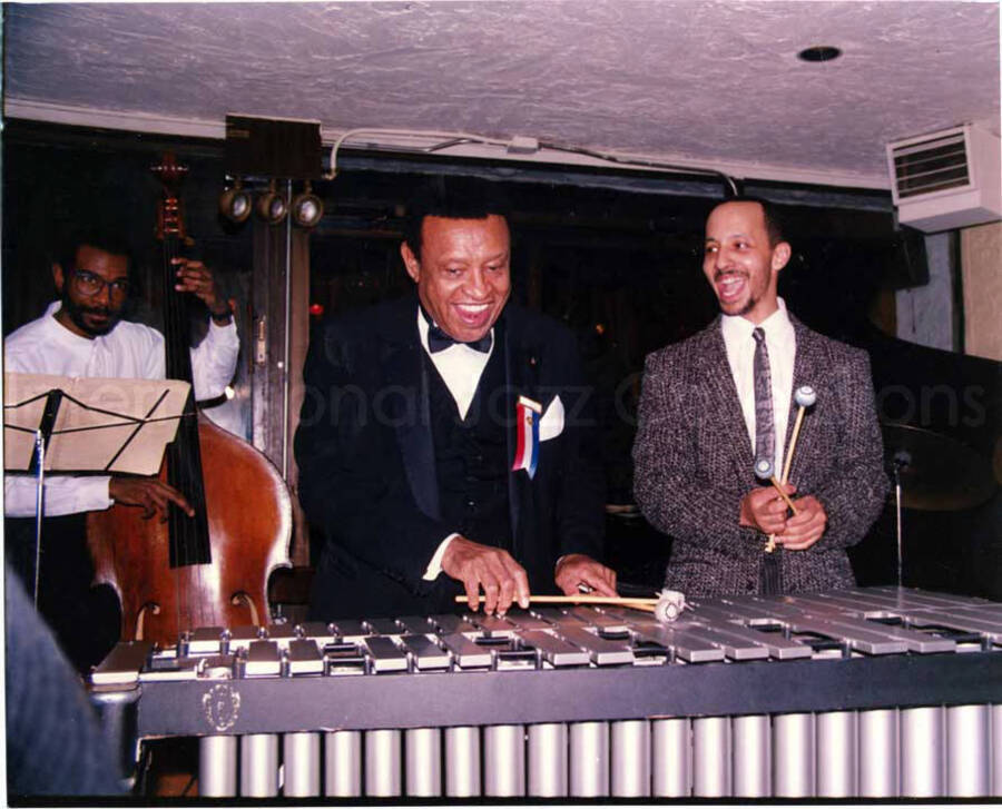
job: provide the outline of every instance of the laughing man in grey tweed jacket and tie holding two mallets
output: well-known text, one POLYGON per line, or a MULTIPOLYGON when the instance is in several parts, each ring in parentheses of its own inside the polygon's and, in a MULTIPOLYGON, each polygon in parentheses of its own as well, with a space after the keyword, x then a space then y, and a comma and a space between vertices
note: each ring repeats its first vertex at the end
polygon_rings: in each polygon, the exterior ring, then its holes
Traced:
POLYGON ((686 595, 851 586, 845 549, 886 496, 868 357, 786 312, 789 256, 768 203, 716 206, 703 272, 721 314, 647 357, 635 493, 674 537, 665 583, 686 595))

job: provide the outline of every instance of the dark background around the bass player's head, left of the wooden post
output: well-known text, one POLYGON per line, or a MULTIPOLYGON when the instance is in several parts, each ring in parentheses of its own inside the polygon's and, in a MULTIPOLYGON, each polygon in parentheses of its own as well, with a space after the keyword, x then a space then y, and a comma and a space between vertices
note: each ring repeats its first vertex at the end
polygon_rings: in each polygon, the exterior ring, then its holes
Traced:
POLYGON ((167 149, 188 167, 181 198, 194 245, 184 254, 209 264, 226 292, 239 296, 250 238, 228 233, 216 215, 220 146, 11 122, 3 137, 4 335, 53 299, 50 266, 58 241, 88 226, 128 236, 139 283, 131 317, 159 324, 163 262, 155 231, 161 186, 150 167, 167 149))

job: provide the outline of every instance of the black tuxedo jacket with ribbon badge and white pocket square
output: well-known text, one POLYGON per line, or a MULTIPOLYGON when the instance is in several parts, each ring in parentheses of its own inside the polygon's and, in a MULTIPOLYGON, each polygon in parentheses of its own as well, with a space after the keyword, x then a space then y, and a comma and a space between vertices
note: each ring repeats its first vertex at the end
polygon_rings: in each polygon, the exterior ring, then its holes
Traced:
MULTIPOLYGON (((479 404, 507 426, 509 467, 519 396, 544 413, 559 396, 564 410, 562 433, 540 443, 534 477, 509 473, 511 553, 532 592, 554 592, 561 555, 601 555, 605 483, 591 388, 568 329, 514 304, 502 317, 494 352, 507 384, 479 392, 479 404)), ((326 537, 311 596, 315 619, 429 614, 462 592, 444 573, 422 579, 455 526, 440 516, 428 388, 435 372, 423 361, 416 319, 410 296, 328 320, 311 343, 295 453, 299 501, 326 537)))

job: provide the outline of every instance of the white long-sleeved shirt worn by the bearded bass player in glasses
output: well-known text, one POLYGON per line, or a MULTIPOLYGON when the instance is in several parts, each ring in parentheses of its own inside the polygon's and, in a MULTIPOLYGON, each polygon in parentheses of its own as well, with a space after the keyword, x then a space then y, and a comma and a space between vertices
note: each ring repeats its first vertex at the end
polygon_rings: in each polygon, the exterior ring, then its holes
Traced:
MULTIPOLYGON (((55 302, 46 314, 21 326, 3 341, 4 369, 23 374, 55 374, 73 377, 163 379, 166 374, 164 335, 139 323, 119 320, 108 334, 81 337, 53 315, 55 302)), ((214 398, 223 393, 236 371, 239 338, 236 325, 210 322, 205 338, 191 348, 195 397, 214 398)), ((99 511, 111 505, 107 475, 46 476, 46 515, 99 511)), ((31 475, 4 475, 3 513, 8 516, 35 514, 36 480, 31 475)))

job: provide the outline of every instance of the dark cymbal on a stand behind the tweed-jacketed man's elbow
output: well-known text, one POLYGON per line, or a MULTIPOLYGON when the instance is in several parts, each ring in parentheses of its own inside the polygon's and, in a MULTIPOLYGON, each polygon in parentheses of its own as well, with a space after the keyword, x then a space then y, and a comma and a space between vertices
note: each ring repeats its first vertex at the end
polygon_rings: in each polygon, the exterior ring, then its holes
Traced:
POLYGON ((901 470, 901 504, 920 511, 960 511, 980 505, 995 493, 992 463, 970 447, 940 433, 904 424, 882 424, 884 461, 901 470))

